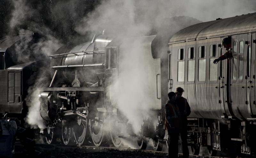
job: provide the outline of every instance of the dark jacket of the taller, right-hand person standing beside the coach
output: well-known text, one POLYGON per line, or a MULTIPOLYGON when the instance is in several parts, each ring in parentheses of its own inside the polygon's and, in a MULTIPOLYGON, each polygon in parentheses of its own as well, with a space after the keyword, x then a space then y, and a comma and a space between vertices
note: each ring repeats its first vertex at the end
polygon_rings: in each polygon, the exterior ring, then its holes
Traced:
POLYGON ((186 119, 190 115, 191 110, 188 101, 184 97, 176 98, 176 104, 179 107, 182 120, 186 119))

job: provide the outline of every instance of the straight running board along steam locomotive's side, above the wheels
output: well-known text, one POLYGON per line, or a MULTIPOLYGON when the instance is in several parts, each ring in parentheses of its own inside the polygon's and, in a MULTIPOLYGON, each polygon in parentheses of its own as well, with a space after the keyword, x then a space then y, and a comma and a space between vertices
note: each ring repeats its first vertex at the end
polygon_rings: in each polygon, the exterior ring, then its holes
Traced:
POLYGON ((104 87, 45 87, 39 91, 104 91, 104 87))

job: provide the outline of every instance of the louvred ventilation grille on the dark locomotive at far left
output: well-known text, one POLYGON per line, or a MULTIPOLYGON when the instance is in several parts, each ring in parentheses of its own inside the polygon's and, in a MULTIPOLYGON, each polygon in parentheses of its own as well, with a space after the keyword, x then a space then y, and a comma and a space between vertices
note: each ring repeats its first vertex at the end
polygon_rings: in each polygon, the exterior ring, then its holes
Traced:
POLYGON ((14 96, 20 96, 21 71, 8 71, 8 102, 14 102, 14 96))

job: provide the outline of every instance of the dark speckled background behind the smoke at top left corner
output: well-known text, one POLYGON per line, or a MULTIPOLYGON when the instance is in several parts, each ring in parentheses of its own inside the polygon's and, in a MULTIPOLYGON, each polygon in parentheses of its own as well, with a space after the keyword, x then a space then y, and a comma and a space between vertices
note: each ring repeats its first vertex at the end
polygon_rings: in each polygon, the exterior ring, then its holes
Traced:
POLYGON ((18 1, 0 1, 0 36, 17 34, 22 29, 43 34, 50 30, 52 36, 64 43, 80 36, 74 28, 88 12, 100 4, 100 0, 20 0, 20 3, 26 4, 33 11, 26 15, 22 23, 11 28, 10 20, 16 2, 18 1))

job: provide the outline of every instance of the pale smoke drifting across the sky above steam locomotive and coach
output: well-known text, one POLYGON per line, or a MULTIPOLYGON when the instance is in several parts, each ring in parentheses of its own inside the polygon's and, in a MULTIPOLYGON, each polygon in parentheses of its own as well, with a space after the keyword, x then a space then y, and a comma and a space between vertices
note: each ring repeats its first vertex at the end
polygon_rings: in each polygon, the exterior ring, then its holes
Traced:
POLYGON ((115 35, 143 36, 151 29, 161 31, 158 29, 171 17, 189 16, 203 22, 212 21, 255 12, 255 6, 253 0, 104 0, 81 20, 75 30, 84 34, 107 29, 115 35))

